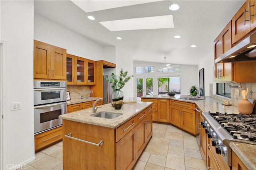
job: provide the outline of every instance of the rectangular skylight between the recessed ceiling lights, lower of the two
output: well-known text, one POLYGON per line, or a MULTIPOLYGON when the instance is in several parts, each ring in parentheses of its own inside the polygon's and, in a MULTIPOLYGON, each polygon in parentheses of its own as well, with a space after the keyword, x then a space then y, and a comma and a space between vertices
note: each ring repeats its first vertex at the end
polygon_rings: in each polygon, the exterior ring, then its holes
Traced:
POLYGON ((174 28, 172 15, 100 22, 110 31, 174 28))

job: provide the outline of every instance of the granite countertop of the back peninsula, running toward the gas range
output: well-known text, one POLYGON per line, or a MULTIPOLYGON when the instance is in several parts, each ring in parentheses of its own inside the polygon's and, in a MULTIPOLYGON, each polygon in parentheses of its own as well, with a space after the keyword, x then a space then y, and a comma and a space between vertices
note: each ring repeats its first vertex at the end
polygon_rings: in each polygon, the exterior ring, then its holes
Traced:
POLYGON ((222 105, 222 101, 218 100, 216 98, 212 98, 210 96, 206 96, 204 100, 184 100, 179 98, 190 98, 188 95, 179 95, 176 94, 175 96, 168 96, 168 95, 146 95, 142 96, 141 98, 152 98, 152 99, 170 99, 170 100, 178 100, 181 102, 189 102, 189 103, 195 103, 199 109, 201 109, 203 112, 220 112, 220 113, 235 113, 238 114, 238 107, 236 106, 225 106, 222 105))

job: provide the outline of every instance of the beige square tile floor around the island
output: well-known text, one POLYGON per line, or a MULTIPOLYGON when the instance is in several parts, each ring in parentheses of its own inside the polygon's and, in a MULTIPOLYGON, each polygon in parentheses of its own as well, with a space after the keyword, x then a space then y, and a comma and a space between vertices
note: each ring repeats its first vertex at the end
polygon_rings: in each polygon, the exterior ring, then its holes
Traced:
MULTIPOLYGON (((26 170, 62 170, 62 142, 36 153, 26 170)), ((153 123, 153 136, 134 170, 206 170, 196 138, 172 125, 153 123)))

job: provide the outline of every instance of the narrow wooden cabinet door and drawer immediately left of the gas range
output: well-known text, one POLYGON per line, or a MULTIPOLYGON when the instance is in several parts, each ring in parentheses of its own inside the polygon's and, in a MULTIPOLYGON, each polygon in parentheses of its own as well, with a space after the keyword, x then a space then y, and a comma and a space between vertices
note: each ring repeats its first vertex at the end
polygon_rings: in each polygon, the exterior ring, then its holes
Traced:
MULTIPOLYGON (((203 115, 200 115, 200 122, 201 121, 204 121, 203 115)), ((202 127, 201 123, 200 123, 200 149, 201 149, 203 160, 206 163, 207 135, 206 135, 205 129, 202 127)))

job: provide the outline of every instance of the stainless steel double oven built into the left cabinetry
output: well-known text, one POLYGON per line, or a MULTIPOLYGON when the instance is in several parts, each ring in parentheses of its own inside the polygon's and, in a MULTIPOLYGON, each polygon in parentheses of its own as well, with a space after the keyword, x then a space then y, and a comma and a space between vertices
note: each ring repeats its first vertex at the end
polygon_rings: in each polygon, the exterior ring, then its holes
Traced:
POLYGON ((66 82, 34 80, 34 133, 62 125, 59 115, 65 113, 66 82))

